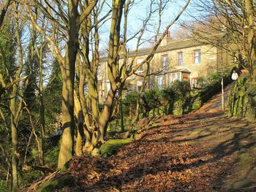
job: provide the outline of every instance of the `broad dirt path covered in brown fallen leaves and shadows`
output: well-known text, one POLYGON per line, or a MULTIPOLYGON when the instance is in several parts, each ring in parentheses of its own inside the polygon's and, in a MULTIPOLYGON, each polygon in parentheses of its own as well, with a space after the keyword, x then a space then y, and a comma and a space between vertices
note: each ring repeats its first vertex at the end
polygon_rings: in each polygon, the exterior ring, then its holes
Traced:
POLYGON ((107 159, 75 158, 67 191, 256 191, 256 123, 167 116, 107 159))

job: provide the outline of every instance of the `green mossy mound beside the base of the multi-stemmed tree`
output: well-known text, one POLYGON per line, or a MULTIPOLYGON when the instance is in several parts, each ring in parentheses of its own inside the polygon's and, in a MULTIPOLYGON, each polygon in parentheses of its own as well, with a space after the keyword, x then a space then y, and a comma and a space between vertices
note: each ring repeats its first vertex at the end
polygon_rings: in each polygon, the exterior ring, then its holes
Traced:
POLYGON ((99 154, 102 157, 113 155, 121 146, 127 145, 132 141, 133 139, 110 139, 99 147, 99 154))

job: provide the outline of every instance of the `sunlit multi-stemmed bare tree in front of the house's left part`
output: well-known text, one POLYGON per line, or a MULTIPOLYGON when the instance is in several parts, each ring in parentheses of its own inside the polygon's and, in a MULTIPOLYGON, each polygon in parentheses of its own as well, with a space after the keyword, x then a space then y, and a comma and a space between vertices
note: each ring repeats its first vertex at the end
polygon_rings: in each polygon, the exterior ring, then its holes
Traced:
MULTIPOLYGON (((187 1, 187 4, 188 3, 189 1, 187 1)), ((84 152, 91 152, 91 150, 94 150, 94 147, 96 147, 100 143, 105 142, 105 134, 107 131, 108 123, 110 122, 110 118, 113 116, 115 109, 118 108, 118 99, 115 98, 116 92, 118 91, 118 94, 121 95, 121 91, 124 88, 124 83, 126 82, 127 78, 132 76, 132 74, 135 74, 137 69, 140 67, 139 65, 132 66, 135 61, 136 55, 133 58, 132 64, 128 64, 128 60, 126 62, 125 59, 124 64, 119 63, 120 51, 124 49, 124 53, 128 53, 128 51, 126 50, 127 47, 125 47, 126 42, 128 41, 128 38, 126 37, 127 26, 124 24, 124 42, 121 42, 120 26, 123 9, 128 12, 130 4, 133 4, 133 1, 112 1, 108 59, 107 64, 104 66, 104 70, 107 71, 106 73, 108 73, 107 78, 110 82, 110 90, 108 91, 108 93, 106 93, 103 109, 99 108, 99 92, 97 88, 97 69, 99 67, 99 36, 97 27, 100 26, 97 17, 99 16, 100 6, 94 9, 94 14, 92 14, 94 22, 89 23, 90 21, 87 20, 87 23, 84 23, 84 28, 86 28, 87 30, 83 31, 83 33, 80 34, 81 36, 83 36, 83 41, 80 41, 80 47, 82 48, 80 56, 81 58, 83 58, 83 72, 80 71, 79 99, 84 115, 84 133, 86 136, 86 144, 83 147, 84 152), (92 39, 89 40, 89 37, 92 37, 92 39), (89 57, 89 44, 91 44, 91 58, 89 57), (89 93, 86 96, 84 96, 83 94, 85 79, 87 80, 86 83, 89 88, 89 93)), ((153 4, 154 1, 151 1, 151 6, 153 6, 153 4)), ((187 7, 187 4, 184 9, 187 7)), ((159 12, 162 12, 162 7, 164 6, 162 6, 162 4, 159 4, 159 7, 161 7, 159 8, 159 12)), ((184 11, 184 9, 182 10, 182 12, 184 11)), ((148 21, 151 19, 152 12, 154 12, 154 10, 151 7, 150 13, 147 15, 146 20, 144 20, 143 22, 142 28, 138 32, 138 34, 140 34, 138 35, 140 39, 143 35, 143 31, 145 30, 148 21)), ((177 19, 178 17, 176 18, 176 20, 177 19)), ((160 42, 165 37, 168 28, 170 28, 170 26, 175 23, 175 21, 167 26, 165 33, 162 35, 162 37, 160 37, 158 42, 156 42, 153 50, 150 54, 148 54, 148 57, 145 59, 143 64, 151 61, 154 52, 157 50, 160 42)), ((124 21, 124 23, 126 23, 126 21, 124 21)), ((140 42, 138 41, 138 47, 139 45, 140 42)), ((124 55, 124 58, 126 58, 126 56, 128 58, 128 55, 124 55)))

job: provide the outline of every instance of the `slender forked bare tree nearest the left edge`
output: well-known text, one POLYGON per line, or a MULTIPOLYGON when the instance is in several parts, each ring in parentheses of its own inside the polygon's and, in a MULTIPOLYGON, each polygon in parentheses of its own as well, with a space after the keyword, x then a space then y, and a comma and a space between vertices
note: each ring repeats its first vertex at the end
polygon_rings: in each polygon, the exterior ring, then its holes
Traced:
MULTIPOLYGON (((2 74, 0 74, 1 85, 5 85, 5 82, 8 83, 5 88, 5 94, 8 96, 9 101, 9 111, 10 111, 10 128, 12 131, 12 160, 11 160, 11 175, 12 175, 12 191, 18 191, 18 123, 23 112, 23 100, 24 93, 28 86, 29 80, 26 77, 22 77, 23 74, 23 44, 22 44, 22 30, 24 18, 20 17, 20 7, 18 3, 14 4, 14 23, 15 23, 15 40, 18 49, 18 61, 15 62, 15 69, 11 69, 8 66, 5 58, 5 50, 3 47, 0 47, 1 57, 3 58, 5 80, 2 79, 2 74), (20 82, 21 80, 24 80, 20 82), (18 83, 20 82, 20 83, 18 83), (10 90, 7 91, 7 88, 10 90)), ((7 118, 4 117, 4 114, 1 113, 1 118, 5 121, 7 118)))

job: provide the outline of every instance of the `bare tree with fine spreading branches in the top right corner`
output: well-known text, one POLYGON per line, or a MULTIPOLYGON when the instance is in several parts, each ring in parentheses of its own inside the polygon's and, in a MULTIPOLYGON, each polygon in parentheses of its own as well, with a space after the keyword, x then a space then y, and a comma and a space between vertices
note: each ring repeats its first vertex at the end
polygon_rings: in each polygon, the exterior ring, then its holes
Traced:
POLYGON ((185 26, 204 42, 241 54, 255 80, 255 12, 252 0, 197 1, 190 14, 194 21, 185 26))

